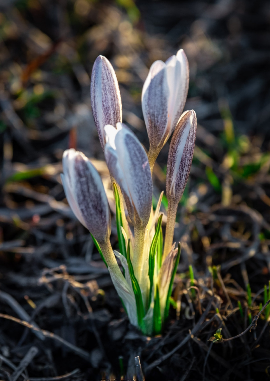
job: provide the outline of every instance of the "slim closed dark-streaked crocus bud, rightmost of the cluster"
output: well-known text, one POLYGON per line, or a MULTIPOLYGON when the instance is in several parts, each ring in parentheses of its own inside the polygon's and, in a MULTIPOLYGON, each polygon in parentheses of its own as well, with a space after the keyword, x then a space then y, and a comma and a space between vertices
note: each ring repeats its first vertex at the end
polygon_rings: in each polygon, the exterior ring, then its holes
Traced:
POLYGON ((194 110, 182 114, 171 139, 166 175, 166 195, 178 204, 187 185, 193 158, 197 119, 194 110))

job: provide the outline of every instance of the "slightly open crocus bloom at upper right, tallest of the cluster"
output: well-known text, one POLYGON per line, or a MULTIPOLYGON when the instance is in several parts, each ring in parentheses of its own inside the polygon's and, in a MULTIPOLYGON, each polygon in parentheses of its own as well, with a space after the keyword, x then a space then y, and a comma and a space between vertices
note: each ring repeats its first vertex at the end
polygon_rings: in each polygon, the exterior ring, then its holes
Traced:
POLYGON ((142 112, 150 150, 157 155, 182 114, 188 89, 189 63, 182 49, 166 62, 155 61, 150 67, 142 88, 142 112))

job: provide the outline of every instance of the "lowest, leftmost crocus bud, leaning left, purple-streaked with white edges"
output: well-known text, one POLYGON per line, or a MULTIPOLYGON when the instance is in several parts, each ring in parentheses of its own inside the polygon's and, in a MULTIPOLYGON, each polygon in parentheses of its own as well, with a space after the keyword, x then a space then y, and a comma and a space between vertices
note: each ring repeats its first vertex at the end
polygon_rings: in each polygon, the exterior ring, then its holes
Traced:
POLYGON ((63 154, 62 184, 75 216, 97 242, 110 236, 110 210, 101 178, 90 160, 75 149, 63 154))

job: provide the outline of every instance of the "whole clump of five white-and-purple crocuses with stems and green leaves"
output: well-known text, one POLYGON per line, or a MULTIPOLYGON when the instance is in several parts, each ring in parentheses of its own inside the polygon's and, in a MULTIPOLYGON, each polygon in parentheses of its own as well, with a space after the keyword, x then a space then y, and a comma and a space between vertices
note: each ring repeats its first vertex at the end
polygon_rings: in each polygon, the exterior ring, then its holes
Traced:
POLYGON ((190 172, 197 126, 193 110, 182 114, 188 87, 189 64, 183 50, 166 62, 152 64, 142 89, 142 110, 150 141, 147 155, 135 134, 122 123, 120 90, 112 65, 103 56, 94 63, 91 106, 115 195, 119 252, 113 251, 110 244, 109 204, 97 170, 81 152, 69 149, 63 155, 62 183, 69 205, 91 233, 130 322, 146 335, 162 332, 179 262, 180 244, 175 248, 174 225, 190 172), (163 193, 154 212, 152 171, 172 133, 163 245, 163 193), (133 229, 128 225, 124 205, 133 229))

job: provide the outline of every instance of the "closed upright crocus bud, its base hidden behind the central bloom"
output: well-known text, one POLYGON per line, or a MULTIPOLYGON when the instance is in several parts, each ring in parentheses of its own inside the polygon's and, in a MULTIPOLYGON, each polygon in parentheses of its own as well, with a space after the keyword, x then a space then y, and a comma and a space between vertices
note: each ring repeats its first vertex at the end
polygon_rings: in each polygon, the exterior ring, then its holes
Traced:
POLYGON ((105 146, 104 126, 122 122, 122 102, 112 65, 104 56, 94 62, 91 76, 91 106, 102 149, 105 146))

